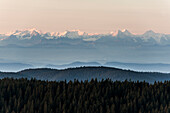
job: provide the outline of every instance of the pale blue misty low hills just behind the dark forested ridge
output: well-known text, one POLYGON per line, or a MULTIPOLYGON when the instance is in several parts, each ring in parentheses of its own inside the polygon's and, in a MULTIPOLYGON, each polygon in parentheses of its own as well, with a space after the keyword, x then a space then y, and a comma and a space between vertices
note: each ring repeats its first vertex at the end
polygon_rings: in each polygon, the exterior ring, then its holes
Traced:
POLYGON ((124 63, 124 62, 81 62, 76 61, 66 64, 25 64, 17 62, 6 62, 0 60, 0 71, 2 72, 18 72, 30 68, 50 68, 50 69, 67 69, 67 68, 76 68, 76 67, 114 67, 119 69, 133 70, 139 72, 161 72, 161 73, 170 73, 170 64, 163 63, 124 63))

